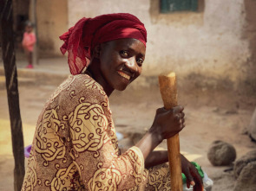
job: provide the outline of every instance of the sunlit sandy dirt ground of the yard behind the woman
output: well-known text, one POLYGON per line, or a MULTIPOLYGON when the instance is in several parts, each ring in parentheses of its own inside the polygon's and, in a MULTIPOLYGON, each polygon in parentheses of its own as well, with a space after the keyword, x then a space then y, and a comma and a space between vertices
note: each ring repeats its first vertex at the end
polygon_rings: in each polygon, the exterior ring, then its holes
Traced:
MULTIPOLYGON (((36 120, 45 101, 57 85, 20 86, 20 107, 23 119, 24 145, 32 142, 36 120)), ((181 153, 191 161, 199 162, 213 179, 213 191, 233 190, 231 167, 213 167, 207 159, 208 147, 215 140, 233 144, 237 158, 255 149, 255 143, 242 132, 250 122, 255 98, 234 92, 179 88, 179 102, 185 106, 186 128, 181 131, 181 153)), ((0 190, 13 190, 14 160, 11 150, 10 122, 5 89, 0 89, 0 190)), ((162 106, 158 86, 130 86, 124 92, 114 92, 109 98, 117 131, 145 132, 153 123, 154 112, 162 106)), ((165 149, 161 143, 160 149, 165 149)))

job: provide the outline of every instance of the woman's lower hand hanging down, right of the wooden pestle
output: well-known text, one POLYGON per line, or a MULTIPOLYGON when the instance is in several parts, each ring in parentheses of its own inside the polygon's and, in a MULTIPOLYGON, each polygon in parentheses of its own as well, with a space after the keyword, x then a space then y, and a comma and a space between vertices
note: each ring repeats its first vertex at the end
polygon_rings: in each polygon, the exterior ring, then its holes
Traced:
POLYGON ((187 188, 190 185, 193 186, 194 191, 203 191, 203 181, 200 177, 197 169, 195 169, 194 165, 190 163, 185 156, 181 155, 181 170, 184 175, 187 177, 187 188))

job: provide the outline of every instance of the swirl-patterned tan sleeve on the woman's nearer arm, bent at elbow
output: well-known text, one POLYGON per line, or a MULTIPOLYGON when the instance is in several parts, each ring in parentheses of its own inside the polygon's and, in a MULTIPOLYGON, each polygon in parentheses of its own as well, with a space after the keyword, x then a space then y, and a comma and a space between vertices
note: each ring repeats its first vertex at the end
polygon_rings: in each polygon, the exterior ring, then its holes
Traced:
POLYGON ((81 98, 69 114, 70 156, 89 190, 125 190, 143 181, 144 158, 132 147, 121 156, 115 150, 114 127, 105 115, 108 102, 81 98), (103 109, 104 108, 104 109, 103 109))

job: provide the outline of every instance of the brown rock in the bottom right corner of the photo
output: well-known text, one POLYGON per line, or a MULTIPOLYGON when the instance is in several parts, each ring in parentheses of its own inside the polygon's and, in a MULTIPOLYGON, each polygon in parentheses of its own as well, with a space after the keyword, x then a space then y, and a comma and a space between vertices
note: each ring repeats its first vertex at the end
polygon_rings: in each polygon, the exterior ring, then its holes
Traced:
POLYGON ((240 176, 235 183, 233 191, 255 191, 256 190, 256 161, 249 162, 241 170, 240 176))

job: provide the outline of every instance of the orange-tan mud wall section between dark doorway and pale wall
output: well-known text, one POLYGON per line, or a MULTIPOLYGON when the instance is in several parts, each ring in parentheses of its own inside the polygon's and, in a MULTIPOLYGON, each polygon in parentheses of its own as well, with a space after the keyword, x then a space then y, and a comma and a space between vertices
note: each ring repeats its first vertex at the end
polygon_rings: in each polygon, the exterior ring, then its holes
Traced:
POLYGON ((67 0, 37 1, 36 12, 39 56, 61 55, 59 35, 68 29, 67 0))

